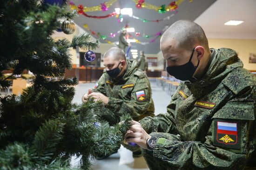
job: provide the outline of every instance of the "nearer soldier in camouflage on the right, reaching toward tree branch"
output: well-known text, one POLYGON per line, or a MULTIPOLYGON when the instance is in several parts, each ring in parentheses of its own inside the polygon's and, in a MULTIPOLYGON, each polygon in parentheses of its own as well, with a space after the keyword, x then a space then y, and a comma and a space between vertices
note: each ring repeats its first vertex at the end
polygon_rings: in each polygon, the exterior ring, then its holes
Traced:
POLYGON ((171 25, 161 50, 184 82, 167 113, 134 121, 127 142, 144 148, 150 170, 255 170, 256 77, 234 50, 209 49, 191 21, 171 25))

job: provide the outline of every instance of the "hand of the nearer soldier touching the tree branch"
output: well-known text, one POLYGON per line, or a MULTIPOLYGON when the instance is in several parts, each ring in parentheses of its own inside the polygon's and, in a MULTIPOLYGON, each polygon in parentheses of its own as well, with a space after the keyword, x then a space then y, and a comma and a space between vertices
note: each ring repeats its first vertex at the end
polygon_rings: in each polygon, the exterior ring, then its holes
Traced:
POLYGON ((141 127, 137 121, 132 122, 130 130, 124 136, 126 142, 134 142, 143 149, 147 149, 147 139, 151 136, 141 127))

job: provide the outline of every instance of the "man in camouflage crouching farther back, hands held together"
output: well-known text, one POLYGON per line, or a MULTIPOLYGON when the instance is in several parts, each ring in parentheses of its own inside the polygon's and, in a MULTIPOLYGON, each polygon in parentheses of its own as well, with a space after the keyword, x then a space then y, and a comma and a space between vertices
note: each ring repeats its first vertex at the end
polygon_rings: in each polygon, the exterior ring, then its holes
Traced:
MULTIPOLYGON (((106 69, 92 91, 84 94, 82 101, 88 97, 101 100, 103 107, 96 114, 107 120, 110 125, 120 121, 120 116, 129 113, 134 120, 154 116, 154 102, 147 75, 137 69, 136 61, 126 60, 119 48, 109 49, 103 59, 106 69)), ((128 147, 128 146, 127 146, 128 147)), ((135 152, 139 147, 128 148, 135 152)))

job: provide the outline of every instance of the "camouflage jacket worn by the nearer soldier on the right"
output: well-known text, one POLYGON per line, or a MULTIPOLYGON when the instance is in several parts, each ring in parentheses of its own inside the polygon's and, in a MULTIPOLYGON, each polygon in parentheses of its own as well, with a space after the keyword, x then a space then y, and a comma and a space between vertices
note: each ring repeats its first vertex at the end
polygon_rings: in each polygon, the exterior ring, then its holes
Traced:
POLYGON ((167 113, 140 121, 148 133, 156 132, 152 155, 166 169, 256 166, 256 77, 234 50, 211 51, 201 80, 182 82, 167 113))

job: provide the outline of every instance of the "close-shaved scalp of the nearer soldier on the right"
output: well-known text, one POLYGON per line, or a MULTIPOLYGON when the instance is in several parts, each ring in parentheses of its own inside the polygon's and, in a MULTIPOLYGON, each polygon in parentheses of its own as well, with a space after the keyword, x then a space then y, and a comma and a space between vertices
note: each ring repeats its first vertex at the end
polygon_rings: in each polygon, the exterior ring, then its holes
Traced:
POLYGON ((180 49, 192 50, 195 45, 209 49, 208 40, 202 27, 189 20, 179 20, 172 24, 161 37, 160 43, 174 39, 180 49))

